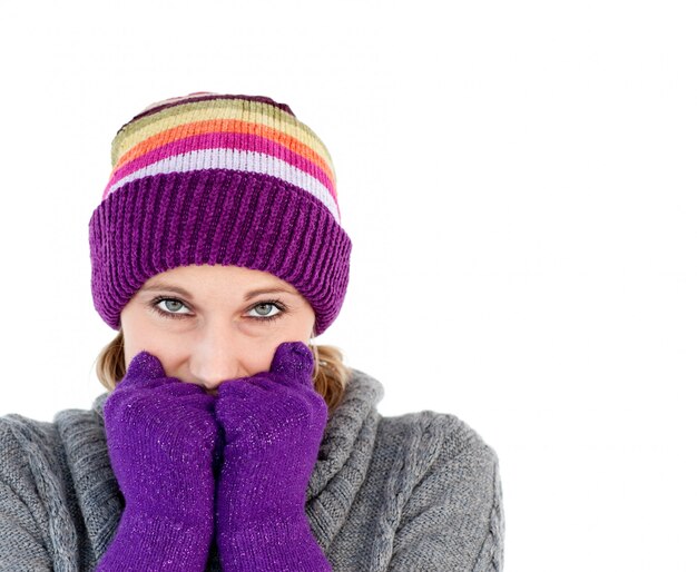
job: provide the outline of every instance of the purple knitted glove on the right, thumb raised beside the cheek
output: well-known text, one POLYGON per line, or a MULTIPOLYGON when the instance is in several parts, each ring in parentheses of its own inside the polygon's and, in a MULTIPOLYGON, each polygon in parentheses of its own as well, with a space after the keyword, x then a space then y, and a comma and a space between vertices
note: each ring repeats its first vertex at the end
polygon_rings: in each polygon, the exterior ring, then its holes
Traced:
POLYGON ((269 372, 218 386, 215 414, 225 447, 216 540, 225 571, 332 570, 305 515, 327 421, 312 369, 307 346, 284 343, 269 372))

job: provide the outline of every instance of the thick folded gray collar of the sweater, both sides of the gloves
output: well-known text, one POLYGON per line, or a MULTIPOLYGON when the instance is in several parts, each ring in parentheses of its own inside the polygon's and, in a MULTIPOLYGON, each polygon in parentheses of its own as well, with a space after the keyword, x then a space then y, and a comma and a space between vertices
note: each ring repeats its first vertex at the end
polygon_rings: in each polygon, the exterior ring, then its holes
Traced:
MULTIPOLYGON (((384 396, 383 385, 370 375, 352 369, 344 396, 334 410, 324 431, 317 461, 306 490, 305 512, 317 542, 326 550, 344 523, 355 495, 367 473, 381 415, 376 405, 384 396)), ((92 404, 92 427, 80 446, 67 446, 68 462, 87 533, 99 556, 116 533, 124 507, 118 483, 111 472, 106 435, 102 393, 92 404), (94 423, 92 423, 94 425, 94 423)), ((75 424, 66 426, 63 437, 78 438, 85 431, 75 424)))

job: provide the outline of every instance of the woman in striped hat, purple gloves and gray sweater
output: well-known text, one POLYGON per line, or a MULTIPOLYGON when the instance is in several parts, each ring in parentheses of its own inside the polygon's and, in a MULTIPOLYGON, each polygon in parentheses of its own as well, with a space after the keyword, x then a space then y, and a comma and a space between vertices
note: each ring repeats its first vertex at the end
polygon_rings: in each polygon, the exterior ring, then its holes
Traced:
POLYGON ((495 454, 454 415, 383 417, 312 338, 351 241, 285 105, 192 93, 112 145, 89 225, 109 389, 0 423, 0 570, 500 570, 495 454))

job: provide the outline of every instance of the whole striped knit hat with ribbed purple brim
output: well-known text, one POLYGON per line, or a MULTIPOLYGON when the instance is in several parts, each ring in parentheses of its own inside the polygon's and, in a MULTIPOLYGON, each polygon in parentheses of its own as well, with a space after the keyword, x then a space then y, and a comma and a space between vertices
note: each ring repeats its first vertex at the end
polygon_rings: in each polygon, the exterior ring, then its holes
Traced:
POLYGON ((114 329, 151 277, 234 265, 292 284, 336 318, 351 240, 327 149, 284 103, 196 92, 148 107, 117 132, 111 177, 89 223, 95 308, 114 329))

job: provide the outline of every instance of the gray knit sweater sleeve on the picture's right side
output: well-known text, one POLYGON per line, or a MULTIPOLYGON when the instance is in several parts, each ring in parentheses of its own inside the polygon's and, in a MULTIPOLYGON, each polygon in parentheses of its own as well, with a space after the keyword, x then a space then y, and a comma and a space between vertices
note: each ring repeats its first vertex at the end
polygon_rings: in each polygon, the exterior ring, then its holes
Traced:
POLYGON ((452 430, 404 505, 391 571, 503 569, 497 455, 464 422, 448 417, 452 430))

